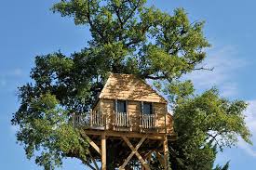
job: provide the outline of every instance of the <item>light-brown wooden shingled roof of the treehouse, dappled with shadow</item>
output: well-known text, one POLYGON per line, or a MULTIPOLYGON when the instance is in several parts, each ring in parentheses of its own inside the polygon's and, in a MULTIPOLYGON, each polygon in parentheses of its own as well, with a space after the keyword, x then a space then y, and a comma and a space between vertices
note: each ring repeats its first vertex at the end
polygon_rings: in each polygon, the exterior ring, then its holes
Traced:
POLYGON ((99 98, 167 103, 165 98, 134 74, 111 73, 99 98))

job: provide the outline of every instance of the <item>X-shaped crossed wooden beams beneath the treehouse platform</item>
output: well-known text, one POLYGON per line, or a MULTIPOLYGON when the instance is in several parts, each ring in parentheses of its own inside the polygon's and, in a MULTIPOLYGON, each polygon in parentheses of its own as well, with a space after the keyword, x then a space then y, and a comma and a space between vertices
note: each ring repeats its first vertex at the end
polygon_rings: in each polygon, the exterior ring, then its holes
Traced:
POLYGON ((135 154, 138 159, 140 160, 140 162, 142 163, 142 165, 145 167, 146 170, 150 170, 149 165, 143 160, 143 158, 141 157, 140 153, 138 152, 139 148, 141 147, 141 144, 143 143, 143 141, 146 139, 147 136, 144 136, 141 138, 140 142, 137 144, 137 146, 134 148, 133 145, 130 143, 130 141, 128 140, 128 137, 123 137, 123 139, 125 140, 125 142, 128 144, 128 147, 130 148, 131 153, 128 155, 128 158, 126 159, 125 163, 123 163, 120 166, 120 170, 124 169, 125 166, 127 165, 127 163, 129 162, 129 160, 132 158, 132 156, 135 154))

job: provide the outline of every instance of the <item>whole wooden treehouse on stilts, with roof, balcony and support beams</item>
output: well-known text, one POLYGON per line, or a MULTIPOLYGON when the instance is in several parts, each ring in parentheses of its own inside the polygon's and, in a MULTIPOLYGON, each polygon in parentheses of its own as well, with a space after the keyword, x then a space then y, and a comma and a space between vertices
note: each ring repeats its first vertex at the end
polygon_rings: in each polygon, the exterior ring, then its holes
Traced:
POLYGON ((91 169, 150 169, 151 156, 168 169, 168 140, 175 140, 168 101, 133 74, 111 73, 91 111, 74 114, 88 138, 91 169), (94 167, 92 164, 94 163, 94 167))

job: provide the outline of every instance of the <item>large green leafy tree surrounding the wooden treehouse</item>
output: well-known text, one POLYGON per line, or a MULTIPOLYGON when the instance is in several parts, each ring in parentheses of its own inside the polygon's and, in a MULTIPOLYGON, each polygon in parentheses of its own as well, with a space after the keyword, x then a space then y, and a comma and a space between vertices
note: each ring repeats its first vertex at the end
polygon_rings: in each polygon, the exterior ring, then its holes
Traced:
POLYGON ((221 98, 215 88, 195 95, 192 82, 182 81, 205 69, 199 65, 209 47, 203 22, 190 22, 182 8, 170 15, 147 7, 146 0, 61 0, 52 11, 89 27, 91 39, 70 56, 37 56, 33 83, 20 87, 12 124, 35 163, 54 169, 68 157, 91 162, 87 138, 70 124, 71 112, 88 111, 109 72, 137 74, 168 98, 179 135, 169 145, 173 169, 213 169, 218 150, 236 145, 237 137, 250 142, 245 102, 221 98))

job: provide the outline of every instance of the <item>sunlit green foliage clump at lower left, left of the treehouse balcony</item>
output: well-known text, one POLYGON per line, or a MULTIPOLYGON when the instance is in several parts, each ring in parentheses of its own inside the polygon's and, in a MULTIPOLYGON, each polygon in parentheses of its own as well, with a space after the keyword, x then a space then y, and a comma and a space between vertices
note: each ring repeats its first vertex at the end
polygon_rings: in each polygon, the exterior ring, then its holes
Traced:
POLYGON ((69 123, 69 116, 58 99, 50 93, 30 98, 29 103, 24 101, 27 98, 22 99, 20 110, 12 120, 20 125, 17 138, 24 145, 27 157, 35 156, 35 163, 45 169, 60 166, 62 158, 74 153, 86 161, 88 143, 69 123))

